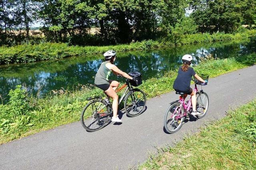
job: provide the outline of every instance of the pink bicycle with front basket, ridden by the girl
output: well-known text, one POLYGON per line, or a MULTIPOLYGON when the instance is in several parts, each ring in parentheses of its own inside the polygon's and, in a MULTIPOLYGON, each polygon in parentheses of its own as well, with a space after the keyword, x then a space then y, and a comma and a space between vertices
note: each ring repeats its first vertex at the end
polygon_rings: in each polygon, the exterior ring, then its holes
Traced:
MULTIPOLYGON (((201 77, 204 77, 203 79, 208 81, 209 76, 201 77)), ((201 83, 196 79, 193 81, 195 82, 194 92, 196 92, 196 110, 201 113, 197 117, 202 118, 206 115, 209 106, 208 95, 202 90, 202 86, 207 85, 207 83, 201 83), (200 91, 198 91, 197 85, 201 86, 200 91)), ((190 100, 186 103, 183 98, 184 93, 176 92, 176 94, 180 94, 180 100, 172 102, 164 116, 164 128, 168 133, 175 133, 180 130, 182 122, 192 112, 191 97, 190 100)))

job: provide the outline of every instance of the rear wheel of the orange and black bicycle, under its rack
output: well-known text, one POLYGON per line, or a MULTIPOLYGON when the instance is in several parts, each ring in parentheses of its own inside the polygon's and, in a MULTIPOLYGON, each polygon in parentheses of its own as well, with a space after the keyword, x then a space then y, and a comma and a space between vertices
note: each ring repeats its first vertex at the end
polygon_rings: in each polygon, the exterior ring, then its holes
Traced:
POLYGON ((108 122, 110 107, 101 99, 89 102, 81 114, 81 123, 84 129, 93 132, 102 129, 108 122))

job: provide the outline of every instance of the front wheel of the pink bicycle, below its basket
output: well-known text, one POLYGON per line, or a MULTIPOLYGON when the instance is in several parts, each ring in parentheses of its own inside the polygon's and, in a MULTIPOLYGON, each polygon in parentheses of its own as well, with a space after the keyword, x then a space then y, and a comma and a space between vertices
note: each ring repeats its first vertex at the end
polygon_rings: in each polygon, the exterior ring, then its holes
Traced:
POLYGON ((201 114, 198 118, 203 118, 206 115, 209 106, 209 98, 205 92, 196 95, 196 110, 201 114))

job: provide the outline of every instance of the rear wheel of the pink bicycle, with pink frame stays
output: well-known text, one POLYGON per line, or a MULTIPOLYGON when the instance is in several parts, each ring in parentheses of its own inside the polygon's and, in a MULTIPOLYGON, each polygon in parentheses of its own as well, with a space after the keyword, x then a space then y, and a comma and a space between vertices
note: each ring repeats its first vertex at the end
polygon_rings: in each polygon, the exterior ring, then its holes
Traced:
POLYGON ((175 133, 180 130, 184 120, 183 114, 184 108, 182 104, 179 102, 172 103, 164 115, 164 129, 168 133, 175 133))

